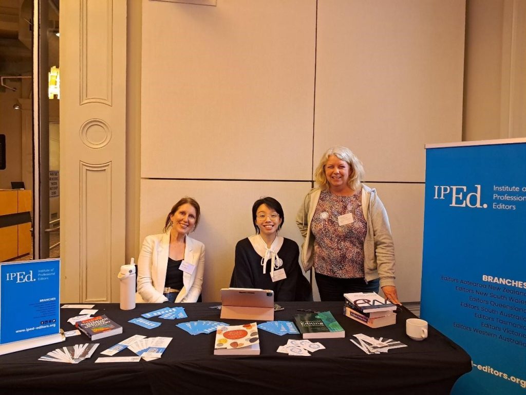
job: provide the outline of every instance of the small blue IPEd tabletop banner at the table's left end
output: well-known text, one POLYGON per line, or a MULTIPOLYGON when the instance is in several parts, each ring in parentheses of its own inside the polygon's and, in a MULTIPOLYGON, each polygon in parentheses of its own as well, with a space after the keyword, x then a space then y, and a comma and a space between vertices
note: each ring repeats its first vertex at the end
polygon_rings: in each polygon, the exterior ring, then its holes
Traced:
POLYGON ((0 345, 60 331, 60 259, 0 265, 0 345))

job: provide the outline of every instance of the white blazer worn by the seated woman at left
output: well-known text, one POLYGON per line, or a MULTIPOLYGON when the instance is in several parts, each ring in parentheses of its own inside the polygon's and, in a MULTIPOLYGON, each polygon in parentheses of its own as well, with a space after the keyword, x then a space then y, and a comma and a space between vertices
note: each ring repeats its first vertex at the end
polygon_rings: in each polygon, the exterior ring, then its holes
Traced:
MULTIPOLYGON (((137 261, 138 303, 162 303, 168 299, 163 295, 170 250, 170 231, 146 236, 137 261)), ((175 300, 178 302, 197 302, 203 285, 205 273, 205 245, 186 236, 185 258, 195 265, 194 272, 183 272, 184 287, 175 300)))

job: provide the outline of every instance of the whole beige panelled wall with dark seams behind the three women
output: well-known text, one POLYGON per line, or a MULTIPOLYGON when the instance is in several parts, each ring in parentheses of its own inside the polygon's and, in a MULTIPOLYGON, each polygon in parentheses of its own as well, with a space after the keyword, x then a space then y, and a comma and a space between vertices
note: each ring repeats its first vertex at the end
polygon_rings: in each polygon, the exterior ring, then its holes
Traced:
POLYGON ((400 297, 419 300, 423 144, 461 139, 464 2, 142 6, 140 239, 196 197, 204 299, 218 300, 252 202, 277 197, 282 234, 301 242, 312 169, 347 145, 390 214, 400 297))

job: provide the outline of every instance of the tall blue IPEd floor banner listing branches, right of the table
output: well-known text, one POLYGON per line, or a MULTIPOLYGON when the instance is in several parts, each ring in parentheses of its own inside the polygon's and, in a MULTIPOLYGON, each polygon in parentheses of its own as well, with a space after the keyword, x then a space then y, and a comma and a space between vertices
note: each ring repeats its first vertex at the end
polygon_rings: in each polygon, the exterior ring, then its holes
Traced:
POLYGON ((421 317, 473 361, 452 393, 526 394, 526 139, 426 146, 425 199, 421 317))

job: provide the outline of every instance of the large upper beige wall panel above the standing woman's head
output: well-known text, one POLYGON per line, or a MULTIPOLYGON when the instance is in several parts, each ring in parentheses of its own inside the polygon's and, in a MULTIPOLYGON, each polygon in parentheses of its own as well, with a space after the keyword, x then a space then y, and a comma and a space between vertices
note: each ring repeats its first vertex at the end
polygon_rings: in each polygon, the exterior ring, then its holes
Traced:
POLYGON ((423 145, 460 141, 465 3, 318 3, 314 160, 350 147, 373 181, 424 180, 423 145))

